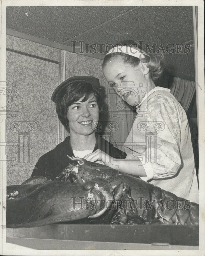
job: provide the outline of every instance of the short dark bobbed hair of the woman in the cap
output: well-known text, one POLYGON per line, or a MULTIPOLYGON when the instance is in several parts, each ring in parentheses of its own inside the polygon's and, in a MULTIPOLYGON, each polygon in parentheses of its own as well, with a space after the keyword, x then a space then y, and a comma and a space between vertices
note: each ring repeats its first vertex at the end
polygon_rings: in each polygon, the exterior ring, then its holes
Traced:
POLYGON ((101 89, 97 86, 93 86, 89 82, 70 82, 65 87, 63 87, 56 95, 56 112, 58 118, 69 132, 69 125, 67 119, 68 107, 78 101, 80 98, 84 97, 82 102, 88 100, 91 95, 95 95, 99 108, 99 121, 103 113, 102 104, 102 93, 101 89))

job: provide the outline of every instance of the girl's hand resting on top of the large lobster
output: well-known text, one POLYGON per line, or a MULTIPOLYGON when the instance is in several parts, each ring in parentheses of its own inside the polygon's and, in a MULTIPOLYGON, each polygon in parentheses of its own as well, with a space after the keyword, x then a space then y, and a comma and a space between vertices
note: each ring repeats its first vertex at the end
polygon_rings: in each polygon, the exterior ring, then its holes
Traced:
POLYGON ((83 158, 90 162, 102 161, 105 165, 112 167, 111 161, 113 158, 100 149, 85 155, 83 158))

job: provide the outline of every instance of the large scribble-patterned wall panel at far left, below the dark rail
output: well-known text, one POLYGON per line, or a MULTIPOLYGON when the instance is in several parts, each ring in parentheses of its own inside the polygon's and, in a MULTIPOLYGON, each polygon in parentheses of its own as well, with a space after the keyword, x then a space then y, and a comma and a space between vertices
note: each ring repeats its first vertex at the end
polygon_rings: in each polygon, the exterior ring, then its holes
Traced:
POLYGON ((58 71, 58 64, 7 51, 7 84, 15 102, 7 113, 8 185, 29 178, 38 158, 56 146, 51 95, 58 86, 58 71))

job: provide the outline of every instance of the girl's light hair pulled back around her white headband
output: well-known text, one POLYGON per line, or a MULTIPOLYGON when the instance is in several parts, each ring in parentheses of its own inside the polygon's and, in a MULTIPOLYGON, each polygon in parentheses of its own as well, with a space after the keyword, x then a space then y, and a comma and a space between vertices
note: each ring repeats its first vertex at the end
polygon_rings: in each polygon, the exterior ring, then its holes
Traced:
POLYGON ((116 56, 121 56, 124 60, 124 63, 128 63, 134 67, 138 66, 140 61, 144 63, 148 63, 147 67, 149 68, 149 73, 153 81, 156 81, 164 72, 164 56, 163 54, 152 54, 147 53, 141 47, 141 44, 137 44, 133 40, 123 41, 120 44, 116 44, 116 46, 129 46, 132 47, 140 52, 142 52, 140 58, 134 57, 132 55, 126 53, 111 53, 107 54, 103 60, 102 66, 105 66, 106 63, 111 59, 115 58, 116 56), (138 47, 139 46, 139 47, 138 47))

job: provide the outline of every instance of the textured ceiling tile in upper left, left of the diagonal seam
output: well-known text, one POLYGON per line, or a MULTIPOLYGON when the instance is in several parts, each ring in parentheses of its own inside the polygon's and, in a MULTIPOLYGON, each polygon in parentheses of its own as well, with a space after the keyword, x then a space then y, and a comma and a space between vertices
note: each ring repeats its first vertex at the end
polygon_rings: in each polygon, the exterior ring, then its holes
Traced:
POLYGON ((7 28, 64 42, 133 6, 24 6, 6 8, 7 28))

